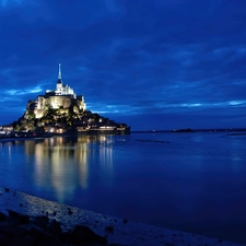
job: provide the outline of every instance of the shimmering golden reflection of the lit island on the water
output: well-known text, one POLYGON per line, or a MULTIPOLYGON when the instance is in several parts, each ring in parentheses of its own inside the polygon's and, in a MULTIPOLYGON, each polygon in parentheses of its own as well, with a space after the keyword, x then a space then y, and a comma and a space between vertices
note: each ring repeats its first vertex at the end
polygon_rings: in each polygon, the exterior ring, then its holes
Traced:
POLYGON ((59 202, 65 202, 81 189, 93 189, 97 180, 105 186, 112 184, 114 142, 114 136, 101 134, 12 139, 0 142, 0 151, 8 153, 5 159, 12 163, 16 150, 21 150, 24 159, 17 162, 23 165, 22 175, 33 180, 37 194, 54 194, 59 202))

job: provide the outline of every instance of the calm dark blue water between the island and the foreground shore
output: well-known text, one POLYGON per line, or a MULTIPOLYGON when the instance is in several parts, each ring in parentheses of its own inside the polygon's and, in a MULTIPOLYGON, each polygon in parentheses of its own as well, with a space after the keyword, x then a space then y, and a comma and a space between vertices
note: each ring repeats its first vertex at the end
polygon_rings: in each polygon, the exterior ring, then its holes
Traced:
POLYGON ((132 133, 4 141, 0 142, 0 186, 246 243, 243 134, 132 133))

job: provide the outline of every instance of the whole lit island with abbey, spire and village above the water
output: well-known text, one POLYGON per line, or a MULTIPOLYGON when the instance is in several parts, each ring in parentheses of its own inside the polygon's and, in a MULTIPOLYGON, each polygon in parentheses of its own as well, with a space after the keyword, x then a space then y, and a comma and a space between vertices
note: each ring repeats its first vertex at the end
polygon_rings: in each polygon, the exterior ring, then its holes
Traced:
POLYGON ((130 133, 130 127, 115 122, 86 109, 82 95, 77 95, 72 87, 65 85, 59 65, 58 81, 55 90, 47 90, 44 95, 30 101, 24 115, 9 126, 3 126, 2 134, 63 134, 83 133, 130 133))

